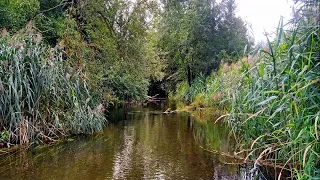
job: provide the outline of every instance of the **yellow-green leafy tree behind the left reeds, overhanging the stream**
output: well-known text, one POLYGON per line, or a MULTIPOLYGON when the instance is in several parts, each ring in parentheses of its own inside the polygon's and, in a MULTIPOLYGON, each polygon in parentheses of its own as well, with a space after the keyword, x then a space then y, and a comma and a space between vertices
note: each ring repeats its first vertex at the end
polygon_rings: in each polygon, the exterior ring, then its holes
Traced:
POLYGON ((157 3, 148 0, 84 0, 77 6, 78 30, 103 64, 101 87, 119 99, 143 99, 150 78, 161 79, 162 63, 154 48, 156 9, 157 3))

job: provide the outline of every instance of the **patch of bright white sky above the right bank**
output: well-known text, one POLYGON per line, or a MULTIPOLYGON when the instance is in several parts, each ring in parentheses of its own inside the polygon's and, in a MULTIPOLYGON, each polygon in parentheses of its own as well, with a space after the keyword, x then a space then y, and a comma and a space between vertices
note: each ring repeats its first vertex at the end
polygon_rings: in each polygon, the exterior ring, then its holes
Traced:
POLYGON ((264 32, 274 32, 281 16, 284 23, 291 19, 292 0, 236 0, 236 3, 237 15, 251 24, 255 42, 266 41, 264 32))

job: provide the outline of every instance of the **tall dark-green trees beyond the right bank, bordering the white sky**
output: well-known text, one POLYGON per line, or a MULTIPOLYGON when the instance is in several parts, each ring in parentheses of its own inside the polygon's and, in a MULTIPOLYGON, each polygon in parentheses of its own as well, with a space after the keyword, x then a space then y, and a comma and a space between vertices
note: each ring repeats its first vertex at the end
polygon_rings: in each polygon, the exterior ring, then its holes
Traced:
POLYGON ((191 86, 195 77, 210 75, 222 59, 237 61, 252 45, 234 0, 165 1, 163 6, 159 47, 169 60, 169 90, 185 79, 191 86))

